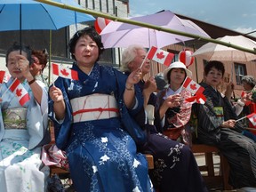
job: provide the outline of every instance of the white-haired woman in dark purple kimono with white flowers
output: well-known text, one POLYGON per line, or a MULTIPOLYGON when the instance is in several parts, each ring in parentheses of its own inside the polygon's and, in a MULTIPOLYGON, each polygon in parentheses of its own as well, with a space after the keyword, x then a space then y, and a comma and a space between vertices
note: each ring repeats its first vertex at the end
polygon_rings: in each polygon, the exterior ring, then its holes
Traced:
MULTIPOLYGON (((156 130, 154 125, 154 120, 155 123, 158 120, 157 111, 155 113, 156 94, 154 91, 156 91, 156 81, 154 77, 150 77, 146 82, 143 80, 143 76, 147 75, 151 68, 150 60, 145 59, 146 56, 147 52, 143 47, 137 44, 130 45, 123 52, 121 70, 128 76, 136 68, 141 67, 139 86, 144 97, 147 121, 145 121, 144 110, 140 111, 136 120, 140 122, 141 128, 147 132, 147 143, 140 145, 139 150, 142 153, 149 153, 154 156, 154 169, 149 172, 154 187, 161 192, 208 191, 190 148, 178 141, 167 138, 156 130)), ((185 67, 184 64, 182 65, 185 67)), ((178 67, 180 68, 180 66, 178 67)), ((184 70, 182 72, 183 80, 185 73, 184 70)), ((181 84, 182 81, 180 81, 181 84)), ((176 104, 172 103, 172 105, 176 104)))

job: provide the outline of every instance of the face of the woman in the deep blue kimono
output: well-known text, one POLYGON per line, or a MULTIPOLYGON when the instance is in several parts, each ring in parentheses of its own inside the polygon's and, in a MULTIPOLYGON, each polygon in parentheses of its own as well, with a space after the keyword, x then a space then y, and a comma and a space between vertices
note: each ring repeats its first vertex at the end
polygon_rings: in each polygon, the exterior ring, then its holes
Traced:
POLYGON ((90 36, 81 36, 76 43, 74 56, 79 66, 92 67, 99 57, 99 47, 90 36))

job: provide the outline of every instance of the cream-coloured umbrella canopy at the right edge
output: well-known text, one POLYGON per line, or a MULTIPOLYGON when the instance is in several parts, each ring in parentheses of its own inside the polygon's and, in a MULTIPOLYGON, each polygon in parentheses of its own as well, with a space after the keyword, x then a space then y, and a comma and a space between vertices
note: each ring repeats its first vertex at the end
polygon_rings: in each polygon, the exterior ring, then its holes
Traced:
MULTIPOLYGON (((252 49, 256 48, 256 42, 244 36, 223 36, 217 38, 222 42, 236 44, 241 47, 252 49)), ((250 61, 256 60, 256 54, 243 52, 221 44, 207 43, 200 47, 192 56, 203 58, 204 60, 221 60, 221 61, 250 61)))

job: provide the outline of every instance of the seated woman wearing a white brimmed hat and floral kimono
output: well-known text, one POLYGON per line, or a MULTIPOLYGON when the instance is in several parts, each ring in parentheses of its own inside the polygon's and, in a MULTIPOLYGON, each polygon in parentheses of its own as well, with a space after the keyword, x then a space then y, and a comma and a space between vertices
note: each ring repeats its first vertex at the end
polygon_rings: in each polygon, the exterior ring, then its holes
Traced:
POLYGON ((172 140, 180 140, 191 146, 188 121, 192 104, 185 101, 191 97, 191 93, 182 88, 187 76, 191 77, 192 72, 180 61, 173 62, 164 70, 164 80, 170 85, 157 93, 157 108, 159 108, 159 118, 162 120, 158 130, 165 132, 164 134, 172 140))

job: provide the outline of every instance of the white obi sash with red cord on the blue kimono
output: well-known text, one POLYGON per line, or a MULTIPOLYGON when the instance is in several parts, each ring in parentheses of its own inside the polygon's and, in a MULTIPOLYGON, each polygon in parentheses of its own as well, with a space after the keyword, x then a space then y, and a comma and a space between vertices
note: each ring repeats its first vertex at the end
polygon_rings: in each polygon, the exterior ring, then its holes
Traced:
POLYGON ((92 94, 70 100, 73 122, 108 119, 119 116, 116 98, 107 94, 92 94))

